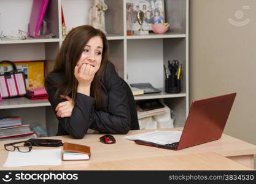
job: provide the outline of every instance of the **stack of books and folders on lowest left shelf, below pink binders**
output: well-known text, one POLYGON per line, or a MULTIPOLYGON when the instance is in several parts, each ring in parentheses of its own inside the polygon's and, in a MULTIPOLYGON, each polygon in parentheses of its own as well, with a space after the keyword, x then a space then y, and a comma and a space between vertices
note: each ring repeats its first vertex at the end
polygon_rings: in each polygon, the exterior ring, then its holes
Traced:
POLYGON ((29 125, 21 125, 21 117, 0 119, 0 141, 30 139, 36 137, 37 134, 31 131, 29 125))

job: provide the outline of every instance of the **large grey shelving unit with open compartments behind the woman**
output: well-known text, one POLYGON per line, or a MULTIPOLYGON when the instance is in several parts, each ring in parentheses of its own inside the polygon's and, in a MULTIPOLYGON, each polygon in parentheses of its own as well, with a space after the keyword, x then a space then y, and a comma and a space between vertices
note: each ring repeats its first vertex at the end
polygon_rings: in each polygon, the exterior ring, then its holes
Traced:
MULTIPOLYGON (((161 99, 172 110, 174 126, 183 126, 188 115, 188 0, 165 0, 166 21, 171 26, 166 34, 126 36, 126 1, 104 0, 109 58, 115 64, 118 75, 128 83, 150 82, 161 88, 162 93, 134 96, 135 100, 161 99), (175 15, 175 16, 174 16, 175 15), (173 25, 172 25, 173 23, 173 25), (182 63, 182 91, 165 93, 163 64, 178 59, 182 63)), ((1 0, 0 32, 5 35, 21 29, 27 31, 33 0, 1 0), (22 9, 20 8, 22 7, 22 9), (12 14, 12 17, 10 17, 12 14)), ((45 60, 46 72, 52 71, 55 56, 64 38, 61 36, 61 4, 67 30, 88 23, 91 0, 51 0, 46 12, 48 32, 52 39, 0 40, 0 60, 11 61, 45 60)), ((49 136, 54 136, 58 121, 47 100, 32 101, 26 98, 3 99, 0 114, 23 117, 24 124, 41 123, 49 136)))

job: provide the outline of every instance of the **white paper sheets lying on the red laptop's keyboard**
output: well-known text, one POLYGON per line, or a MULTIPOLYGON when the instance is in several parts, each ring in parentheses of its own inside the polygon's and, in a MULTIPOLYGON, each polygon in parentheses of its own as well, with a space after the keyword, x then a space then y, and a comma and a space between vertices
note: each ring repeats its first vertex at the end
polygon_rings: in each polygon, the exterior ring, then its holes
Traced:
POLYGON ((125 136, 123 138, 128 140, 144 140, 147 142, 165 145, 179 142, 181 134, 182 131, 152 131, 142 134, 125 136))

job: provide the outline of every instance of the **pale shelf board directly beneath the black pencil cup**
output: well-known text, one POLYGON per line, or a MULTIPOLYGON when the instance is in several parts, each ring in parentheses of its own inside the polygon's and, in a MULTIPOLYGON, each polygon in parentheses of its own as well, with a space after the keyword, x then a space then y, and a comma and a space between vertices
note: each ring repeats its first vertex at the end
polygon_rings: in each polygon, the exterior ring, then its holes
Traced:
POLYGON ((152 93, 152 94, 142 94, 134 96, 135 100, 142 100, 142 99, 158 99, 158 98, 177 98, 177 97, 185 97, 186 93, 165 93, 163 88, 159 88, 162 92, 161 93, 152 93))

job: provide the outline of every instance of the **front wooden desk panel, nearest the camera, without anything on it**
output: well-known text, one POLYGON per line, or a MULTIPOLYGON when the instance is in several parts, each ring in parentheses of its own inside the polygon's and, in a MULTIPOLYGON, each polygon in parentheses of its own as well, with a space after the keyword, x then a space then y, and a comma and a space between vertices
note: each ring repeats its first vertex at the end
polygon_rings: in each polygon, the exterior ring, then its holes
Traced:
POLYGON ((212 152, 182 153, 179 155, 123 159, 118 161, 95 161, 85 164, 53 166, 50 170, 253 170, 212 152))

